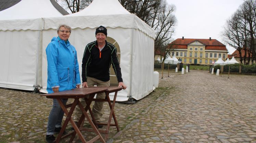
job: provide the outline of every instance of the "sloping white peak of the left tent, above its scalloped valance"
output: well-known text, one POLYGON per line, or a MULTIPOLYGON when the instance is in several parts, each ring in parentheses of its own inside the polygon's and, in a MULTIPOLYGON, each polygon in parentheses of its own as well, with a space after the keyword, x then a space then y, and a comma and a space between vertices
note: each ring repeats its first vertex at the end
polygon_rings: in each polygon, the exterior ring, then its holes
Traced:
POLYGON ((50 0, 22 0, 0 12, 0 20, 33 19, 56 16, 63 15, 52 5, 50 0))

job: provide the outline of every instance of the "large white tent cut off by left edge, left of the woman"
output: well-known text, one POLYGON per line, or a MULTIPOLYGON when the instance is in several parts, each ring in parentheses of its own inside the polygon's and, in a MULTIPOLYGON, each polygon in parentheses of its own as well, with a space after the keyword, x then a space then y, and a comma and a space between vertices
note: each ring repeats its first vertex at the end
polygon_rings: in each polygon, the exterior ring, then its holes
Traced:
POLYGON ((32 91, 41 84, 41 17, 61 15, 50 0, 22 0, 0 12, 0 87, 32 91))

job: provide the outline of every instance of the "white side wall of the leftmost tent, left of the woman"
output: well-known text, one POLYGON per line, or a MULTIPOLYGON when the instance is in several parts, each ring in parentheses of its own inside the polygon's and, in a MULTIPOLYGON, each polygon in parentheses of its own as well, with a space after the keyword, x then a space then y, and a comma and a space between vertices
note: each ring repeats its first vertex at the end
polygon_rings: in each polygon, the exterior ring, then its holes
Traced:
POLYGON ((0 83, 6 84, 6 88, 33 89, 37 78, 38 31, 1 31, 0 37, 1 51, 5 51, 0 53, 5 69, 0 71, 0 83))

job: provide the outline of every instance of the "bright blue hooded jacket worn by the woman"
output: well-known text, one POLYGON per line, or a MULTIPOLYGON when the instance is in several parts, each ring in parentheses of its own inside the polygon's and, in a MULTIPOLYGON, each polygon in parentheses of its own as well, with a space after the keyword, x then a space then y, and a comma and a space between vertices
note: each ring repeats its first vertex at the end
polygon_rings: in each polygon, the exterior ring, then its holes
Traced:
POLYGON ((48 93, 53 93, 53 87, 59 87, 59 91, 66 91, 81 84, 76 49, 69 41, 53 37, 46 48, 46 55, 48 93))

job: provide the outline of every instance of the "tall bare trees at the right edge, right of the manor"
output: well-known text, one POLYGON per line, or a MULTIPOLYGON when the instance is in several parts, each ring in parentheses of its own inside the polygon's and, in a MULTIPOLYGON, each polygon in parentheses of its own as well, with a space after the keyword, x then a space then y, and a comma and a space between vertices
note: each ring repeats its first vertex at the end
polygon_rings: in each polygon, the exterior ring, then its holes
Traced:
POLYGON ((222 31, 223 41, 238 50, 240 62, 256 60, 256 1, 245 0, 227 19, 222 31), (244 57, 242 51, 244 50, 244 57), (252 58, 251 58, 252 57, 252 58))

